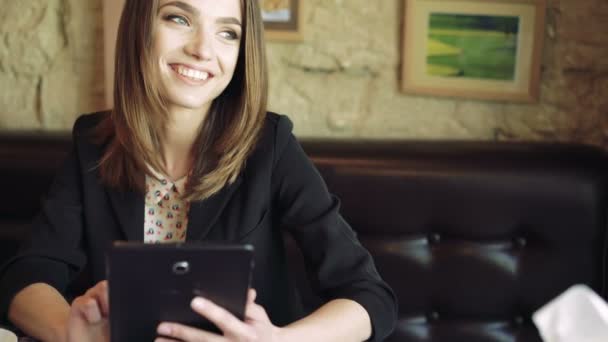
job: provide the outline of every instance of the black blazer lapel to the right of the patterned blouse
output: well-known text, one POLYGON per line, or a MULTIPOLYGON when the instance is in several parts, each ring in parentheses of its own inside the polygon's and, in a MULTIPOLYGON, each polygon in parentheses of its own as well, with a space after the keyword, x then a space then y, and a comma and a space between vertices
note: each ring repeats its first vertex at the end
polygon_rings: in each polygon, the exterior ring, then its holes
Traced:
POLYGON ((194 201, 190 204, 187 241, 201 241, 207 236, 240 183, 241 177, 239 176, 233 184, 225 186, 215 195, 204 201, 194 201))

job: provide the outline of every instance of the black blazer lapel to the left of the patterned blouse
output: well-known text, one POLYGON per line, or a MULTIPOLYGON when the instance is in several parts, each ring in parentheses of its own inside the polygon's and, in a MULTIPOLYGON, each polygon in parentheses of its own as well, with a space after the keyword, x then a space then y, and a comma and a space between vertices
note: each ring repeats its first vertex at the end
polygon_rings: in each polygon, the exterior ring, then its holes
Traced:
POLYGON ((144 196, 137 191, 108 190, 118 223, 128 241, 144 241, 144 196))

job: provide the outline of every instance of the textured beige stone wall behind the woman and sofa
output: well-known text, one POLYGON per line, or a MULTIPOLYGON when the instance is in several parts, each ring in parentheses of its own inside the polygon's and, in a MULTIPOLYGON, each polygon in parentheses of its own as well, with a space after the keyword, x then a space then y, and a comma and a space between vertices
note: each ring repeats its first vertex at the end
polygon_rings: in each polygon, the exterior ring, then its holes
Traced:
MULTIPOLYGON (((605 0, 549 1, 541 100, 527 105, 400 93, 402 0, 304 2, 304 40, 268 45, 270 107, 299 136, 608 144, 605 0)), ((101 3, 0 0, 0 127, 69 129, 103 108, 101 3)))

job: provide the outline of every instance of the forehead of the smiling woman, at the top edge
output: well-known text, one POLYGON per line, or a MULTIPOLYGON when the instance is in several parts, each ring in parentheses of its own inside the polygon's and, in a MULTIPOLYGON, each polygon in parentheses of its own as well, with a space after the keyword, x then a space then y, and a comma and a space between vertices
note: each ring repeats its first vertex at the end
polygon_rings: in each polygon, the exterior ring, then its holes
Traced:
MULTIPOLYGON (((146 0, 147 1, 147 0, 146 0)), ((159 8, 174 6, 191 8, 195 14, 207 17, 242 18, 241 0, 160 0, 159 8)))

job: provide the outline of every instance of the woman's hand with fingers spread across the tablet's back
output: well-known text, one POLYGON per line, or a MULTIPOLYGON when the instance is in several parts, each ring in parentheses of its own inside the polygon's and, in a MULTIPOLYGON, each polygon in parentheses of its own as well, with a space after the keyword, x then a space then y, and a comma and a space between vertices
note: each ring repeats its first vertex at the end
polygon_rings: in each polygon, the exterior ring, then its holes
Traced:
MULTIPOLYGON (((249 342, 279 341, 281 329, 275 327, 263 307, 255 303, 256 292, 250 289, 247 294, 247 305, 245 306, 245 321, 233 316, 226 309, 215 305, 211 301, 196 297, 191 306, 194 311, 215 324, 224 335, 217 335, 208 331, 192 328, 177 323, 163 322, 158 326, 159 335, 178 339, 185 342, 249 342)), ((174 341, 172 339, 159 337, 155 342, 174 341)))

